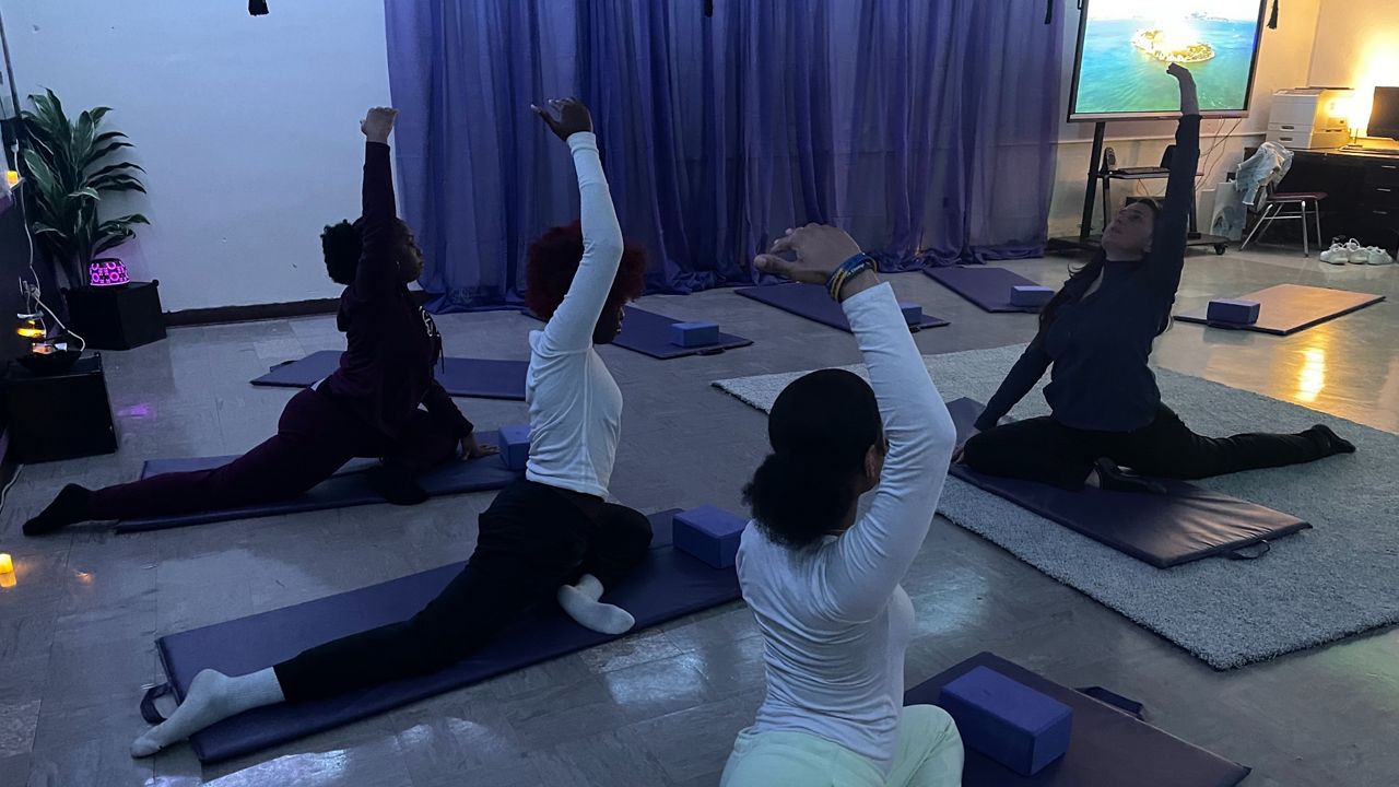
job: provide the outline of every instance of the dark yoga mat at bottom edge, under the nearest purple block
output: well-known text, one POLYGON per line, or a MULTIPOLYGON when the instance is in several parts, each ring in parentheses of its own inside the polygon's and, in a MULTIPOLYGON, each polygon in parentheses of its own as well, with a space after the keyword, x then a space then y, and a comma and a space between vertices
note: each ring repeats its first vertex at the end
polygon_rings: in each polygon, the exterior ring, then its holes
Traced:
POLYGON ((1020 776, 974 749, 967 749, 963 784, 968 787, 1233 787, 1251 772, 1235 762, 1188 744, 1139 718, 1035 675, 990 653, 929 678, 904 695, 904 704, 937 704, 943 686, 986 667, 1073 709, 1069 751, 1034 776, 1020 776))

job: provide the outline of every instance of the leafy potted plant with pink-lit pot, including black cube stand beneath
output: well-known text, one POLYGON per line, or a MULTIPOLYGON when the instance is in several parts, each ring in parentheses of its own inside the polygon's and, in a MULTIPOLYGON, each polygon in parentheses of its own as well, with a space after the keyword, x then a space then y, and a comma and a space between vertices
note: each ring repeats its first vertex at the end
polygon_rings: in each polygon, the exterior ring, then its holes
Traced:
POLYGON ((145 192, 130 161, 118 161, 132 147, 126 134, 101 130, 108 106, 69 120, 53 91, 31 95, 24 112, 27 144, 22 162, 32 188, 34 237, 69 281, 64 298, 69 328, 90 347, 126 350, 165 337, 158 281, 129 283, 126 266, 109 252, 130 241, 140 213, 101 218, 102 196, 145 192))

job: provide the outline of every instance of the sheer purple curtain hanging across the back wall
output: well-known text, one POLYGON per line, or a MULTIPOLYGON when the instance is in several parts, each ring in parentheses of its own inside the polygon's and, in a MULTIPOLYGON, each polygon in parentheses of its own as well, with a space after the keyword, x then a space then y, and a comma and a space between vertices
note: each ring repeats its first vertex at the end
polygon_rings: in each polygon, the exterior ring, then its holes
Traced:
POLYGON ((783 228, 845 227, 884 269, 1038 255, 1060 21, 1025 0, 386 0, 400 210, 434 308, 516 304, 576 217, 527 106, 595 113, 652 291, 747 283, 783 228))

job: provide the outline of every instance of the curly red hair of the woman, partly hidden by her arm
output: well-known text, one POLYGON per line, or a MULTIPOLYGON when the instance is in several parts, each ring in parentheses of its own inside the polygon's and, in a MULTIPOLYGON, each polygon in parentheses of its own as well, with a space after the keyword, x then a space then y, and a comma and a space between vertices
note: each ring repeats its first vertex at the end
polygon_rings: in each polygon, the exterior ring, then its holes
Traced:
MULTIPOLYGON (((548 319, 554 316, 558 304, 564 302, 564 295, 574 283, 574 274, 578 273, 578 265, 583 260, 582 224, 574 221, 565 227, 546 230, 530 244, 527 260, 525 304, 540 318, 548 319)), ((620 308, 641 295, 645 287, 646 252, 625 242, 606 308, 620 308)))

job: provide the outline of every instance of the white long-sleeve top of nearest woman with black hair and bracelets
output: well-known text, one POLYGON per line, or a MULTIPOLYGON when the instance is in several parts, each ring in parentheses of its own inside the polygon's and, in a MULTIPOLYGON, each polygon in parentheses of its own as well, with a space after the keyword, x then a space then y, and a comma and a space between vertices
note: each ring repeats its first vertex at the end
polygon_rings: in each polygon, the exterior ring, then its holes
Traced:
POLYGON ((898 583, 928 535, 957 436, 893 288, 880 284, 844 305, 890 445, 874 501, 849 531, 804 550, 748 527, 739 583, 765 640, 767 696, 753 731, 818 735, 887 774, 914 630, 898 583))

